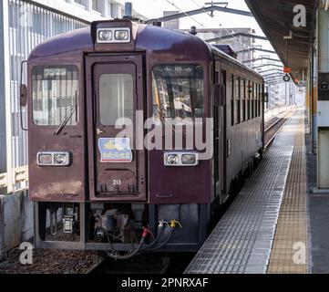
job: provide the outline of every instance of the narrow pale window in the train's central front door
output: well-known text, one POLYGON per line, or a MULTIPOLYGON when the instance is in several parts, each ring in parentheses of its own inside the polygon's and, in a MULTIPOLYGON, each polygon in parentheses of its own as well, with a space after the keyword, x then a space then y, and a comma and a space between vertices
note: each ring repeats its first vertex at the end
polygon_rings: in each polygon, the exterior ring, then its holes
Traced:
POLYGON ((133 78, 130 74, 102 74, 99 77, 99 120, 114 126, 120 118, 133 119, 133 78))

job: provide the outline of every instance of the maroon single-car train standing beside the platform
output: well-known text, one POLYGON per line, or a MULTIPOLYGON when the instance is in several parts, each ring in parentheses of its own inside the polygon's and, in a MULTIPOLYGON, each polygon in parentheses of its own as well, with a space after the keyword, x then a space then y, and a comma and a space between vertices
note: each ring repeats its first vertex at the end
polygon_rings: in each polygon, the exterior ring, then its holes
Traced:
POLYGON ((21 105, 27 99, 36 247, 117 258, 196 251, 217 207, 262 159, 262 77, 197 36, 95 22, 37 46, 27 72, 21 105), (194 143, 135 149, 137 132, 150 131, 140 127, 115 140, 116 120, 135 126, 138 112, 163 127, 164 118, 202 118, 203 134, 213 118, 211 159, 200 160, 194 143))

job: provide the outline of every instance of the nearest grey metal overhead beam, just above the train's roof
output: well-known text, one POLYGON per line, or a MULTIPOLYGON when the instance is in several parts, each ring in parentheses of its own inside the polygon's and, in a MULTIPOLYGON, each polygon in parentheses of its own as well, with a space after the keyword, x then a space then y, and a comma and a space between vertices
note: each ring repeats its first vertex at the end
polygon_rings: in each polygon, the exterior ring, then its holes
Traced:
POLYGON ((175 14, 172 16, 163 16, 163 17, 159 17, 159 18, 152 18, 152 19, 149 19, 148 21, 146 21, 145 23, 152 24, 153 22, 166 22, 166 21, 170 21, 170 20, 180 19, 180 18, 186 17, 186 16, 195 16, 195 15, 200 15, 202 13, 208 13, 208 12, 212 12, 212 11, 221 11, 221 12, 231 13, 231 14, 239 15, 239 16, 253 17, 252 13, 249 11, 221 7, 221 6, 217 6, 217 5, 211 5, 209 7, 203 7, 200 9, 190 10, 190 11, 178 13, 178 14, 175 14))

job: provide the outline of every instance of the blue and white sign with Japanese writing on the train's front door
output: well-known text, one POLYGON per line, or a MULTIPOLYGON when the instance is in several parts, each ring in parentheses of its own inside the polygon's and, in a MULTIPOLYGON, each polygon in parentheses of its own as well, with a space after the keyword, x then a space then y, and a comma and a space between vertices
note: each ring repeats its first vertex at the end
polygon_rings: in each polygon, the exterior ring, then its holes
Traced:
POLYGON ((99 138, 100 162, 132 162, 129 138, 99 138))

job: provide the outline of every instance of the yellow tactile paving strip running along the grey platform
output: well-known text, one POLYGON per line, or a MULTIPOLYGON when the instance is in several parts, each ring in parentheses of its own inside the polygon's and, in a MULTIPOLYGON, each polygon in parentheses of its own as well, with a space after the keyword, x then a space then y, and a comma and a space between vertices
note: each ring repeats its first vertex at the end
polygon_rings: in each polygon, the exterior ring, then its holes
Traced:
POLYGON ((295 136, 293 157, 272 245, 267 273, 308 273, 306 157, 303 118, 295 136))

